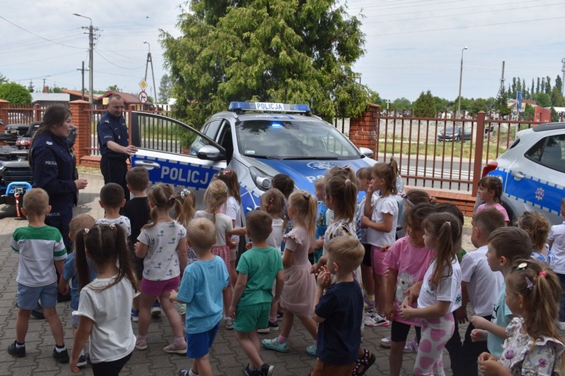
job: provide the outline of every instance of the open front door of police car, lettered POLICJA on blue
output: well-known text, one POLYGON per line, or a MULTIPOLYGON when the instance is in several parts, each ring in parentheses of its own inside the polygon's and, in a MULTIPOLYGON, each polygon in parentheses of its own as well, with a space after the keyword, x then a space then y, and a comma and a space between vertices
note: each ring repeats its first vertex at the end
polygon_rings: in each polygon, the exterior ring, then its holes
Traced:
MULTIPOLYGON (((203 130, 215 126, 207 122, 203 130)), ((151 184, 171 184, 176 191, 192 190, 197 207, 216 172, 225 169, 225 150, 205 134, 173 118, 132 112, 132 144, 138 148, 132 167, 149 171, 151 184)))

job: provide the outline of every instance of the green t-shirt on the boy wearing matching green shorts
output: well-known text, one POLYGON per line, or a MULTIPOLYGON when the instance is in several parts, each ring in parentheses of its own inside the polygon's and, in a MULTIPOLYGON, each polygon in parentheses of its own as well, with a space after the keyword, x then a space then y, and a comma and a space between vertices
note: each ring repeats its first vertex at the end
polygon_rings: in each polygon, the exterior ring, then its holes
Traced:
POLYGON ((275 247, 251 248, 241 255, 236 270, 247 275, 247 285, 238 306, 271 303, 273 281, 282 270, 281 253, 275 247))

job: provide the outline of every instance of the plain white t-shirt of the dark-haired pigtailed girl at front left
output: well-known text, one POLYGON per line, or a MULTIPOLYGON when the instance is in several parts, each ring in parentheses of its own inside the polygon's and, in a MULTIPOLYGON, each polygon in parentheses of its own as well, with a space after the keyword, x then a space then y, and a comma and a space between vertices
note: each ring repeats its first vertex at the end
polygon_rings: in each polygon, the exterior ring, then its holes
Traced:
POLYGON ((132 282, 122 278, 114 286, 111 278, 94 278, 80 291, 79 309, 73 315, 94 321, 90 332, 90 360, 93 363, 111 362, 123 358, 136 346, 131 322, 132 282), (98 290, 97 290, 98 289, 98 290))

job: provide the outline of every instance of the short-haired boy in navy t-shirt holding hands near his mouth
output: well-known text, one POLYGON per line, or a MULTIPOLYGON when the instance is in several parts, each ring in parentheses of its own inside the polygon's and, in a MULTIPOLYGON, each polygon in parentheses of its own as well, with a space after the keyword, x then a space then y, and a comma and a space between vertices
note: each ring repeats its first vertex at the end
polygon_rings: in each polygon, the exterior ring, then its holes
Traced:
MULTIPOLYGON (((365 250, 353 236, 333 238, 325 246, 328 263, 318 274, 314 298, 314 321, 319 323, 318 359, 311 375, 349 376, 359 355, 363 317, 363 293, 353 272, 365 250), (336 276, 334 284, 331 275, 336 276)), ((374 362, 375 355, 371 355, 364 370, 374 362)))

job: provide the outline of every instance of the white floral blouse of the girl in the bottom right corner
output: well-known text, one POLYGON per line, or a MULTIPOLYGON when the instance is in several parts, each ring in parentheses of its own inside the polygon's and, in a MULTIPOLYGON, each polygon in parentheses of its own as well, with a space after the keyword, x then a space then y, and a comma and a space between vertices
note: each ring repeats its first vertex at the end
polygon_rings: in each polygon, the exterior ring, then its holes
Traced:
POLYGON ((532 338, 520 333, 524 319, 514 317, 506 327, 508 338, 502 344, 498 362, 514 375, 558 375, 563 343, 551 337, 532 338))

